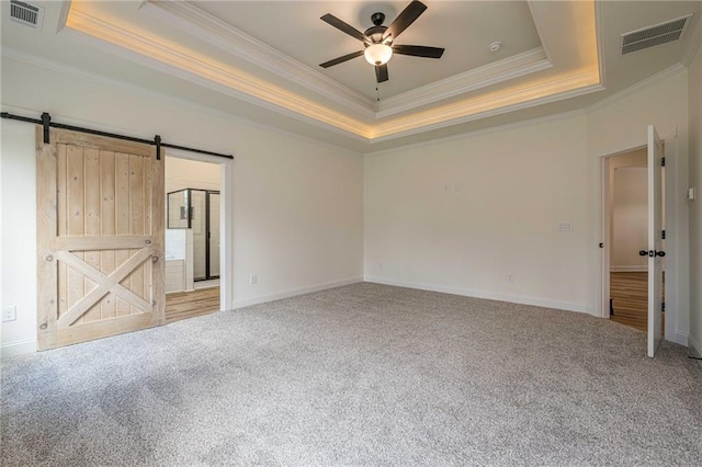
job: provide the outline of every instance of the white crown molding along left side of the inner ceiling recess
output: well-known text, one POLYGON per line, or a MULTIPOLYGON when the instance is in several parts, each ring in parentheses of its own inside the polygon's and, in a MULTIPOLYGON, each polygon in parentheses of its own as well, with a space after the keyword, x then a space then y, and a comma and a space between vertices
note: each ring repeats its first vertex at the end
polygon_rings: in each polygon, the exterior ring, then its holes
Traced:
POLYGON ((149 0, 141 10, 169 22, 215 47, 242 58, 250 64, 281 76, 295 84, 315 91, 332 102, 374 118, 373 101, 360 92, 340 84, 326 75, 282 54, 216 16, 182 0, 149 0))

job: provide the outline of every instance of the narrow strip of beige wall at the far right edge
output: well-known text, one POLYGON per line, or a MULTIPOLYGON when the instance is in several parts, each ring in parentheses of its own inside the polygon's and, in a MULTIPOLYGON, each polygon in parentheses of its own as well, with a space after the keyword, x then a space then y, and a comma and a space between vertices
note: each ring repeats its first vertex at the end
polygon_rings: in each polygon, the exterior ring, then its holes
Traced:
POLYGON ((702 356, 702 47, 690 66, 690 344, 702 356))

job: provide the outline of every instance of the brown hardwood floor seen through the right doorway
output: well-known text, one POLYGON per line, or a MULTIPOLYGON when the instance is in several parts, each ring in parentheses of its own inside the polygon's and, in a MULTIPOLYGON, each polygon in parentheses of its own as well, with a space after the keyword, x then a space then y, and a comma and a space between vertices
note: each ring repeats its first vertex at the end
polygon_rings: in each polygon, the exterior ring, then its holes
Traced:
POLYGON ((610 316, 610 319, 612 321, 631 326, 632 328, 638 329, 641 331, 647 330, 647 272, 610 273, 610 298, 612 298, 612 307, 614 308, 614 314, 610 316))

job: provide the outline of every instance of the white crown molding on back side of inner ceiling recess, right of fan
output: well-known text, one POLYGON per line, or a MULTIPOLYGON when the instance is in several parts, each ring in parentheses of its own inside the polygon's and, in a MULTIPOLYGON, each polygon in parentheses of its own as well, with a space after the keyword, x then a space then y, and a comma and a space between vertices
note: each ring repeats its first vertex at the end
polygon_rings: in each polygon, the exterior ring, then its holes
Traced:
POLYGON ((412 91, 384 99, 377 104, 376 117, 384 118, 552 67, 553 64, 546 58, 543 47, 537 47, 412 91))

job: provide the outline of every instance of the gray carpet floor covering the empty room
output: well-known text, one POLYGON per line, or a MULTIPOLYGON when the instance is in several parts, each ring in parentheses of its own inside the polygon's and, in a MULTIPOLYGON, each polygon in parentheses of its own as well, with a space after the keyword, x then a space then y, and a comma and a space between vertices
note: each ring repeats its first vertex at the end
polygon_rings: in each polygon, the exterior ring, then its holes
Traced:
POLYGON ((702 465, 702 368, 568 311, 355 284, 2 363, 1 464, 702 465))

